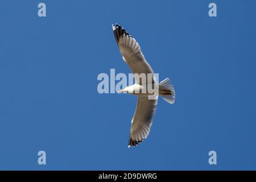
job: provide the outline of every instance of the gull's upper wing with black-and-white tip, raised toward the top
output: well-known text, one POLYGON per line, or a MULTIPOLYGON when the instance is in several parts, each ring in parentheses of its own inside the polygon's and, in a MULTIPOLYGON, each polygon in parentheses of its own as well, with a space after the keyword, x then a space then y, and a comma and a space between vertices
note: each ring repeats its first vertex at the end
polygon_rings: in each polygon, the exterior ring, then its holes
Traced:
MULTIPOLYGON (((123 60, 129 65, 133 74, 138 73, 140 75, 141 73, 151 73, 152 80, 147 80, 147 82, 154 82, 154 71, 143 56, 138 42, 119 24, 115 24, 115 26, 112 25, 112 27, 115 40, 117 41, 117 45, 123 56, 123 60)), ((135 82, 137 84, 141 84, 139 79, 136 77, 135 82)))

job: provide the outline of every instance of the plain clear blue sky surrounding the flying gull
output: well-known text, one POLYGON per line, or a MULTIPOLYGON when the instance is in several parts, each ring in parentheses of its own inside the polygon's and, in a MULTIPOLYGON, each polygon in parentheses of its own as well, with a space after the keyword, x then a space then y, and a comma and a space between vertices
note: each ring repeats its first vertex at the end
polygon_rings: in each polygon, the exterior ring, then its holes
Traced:
POLYGON ((0 169, 256 169, 255 6, 1 1, 0 169), (99 73, 130 73, 112 23, 176 90, 174 105, 159 100, 150 135, 134 148, 127 142, 137 98, 97 92, 99 73))

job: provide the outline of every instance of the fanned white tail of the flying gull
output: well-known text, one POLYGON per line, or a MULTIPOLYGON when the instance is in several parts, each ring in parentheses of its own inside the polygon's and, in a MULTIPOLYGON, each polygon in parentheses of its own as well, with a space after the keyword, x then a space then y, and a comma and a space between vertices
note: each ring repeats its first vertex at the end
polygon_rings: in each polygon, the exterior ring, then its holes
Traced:
POLYGON ((175 90, 169 78, 166 78, 159 83, 159 95, 168 103, 174 104, 175 90))

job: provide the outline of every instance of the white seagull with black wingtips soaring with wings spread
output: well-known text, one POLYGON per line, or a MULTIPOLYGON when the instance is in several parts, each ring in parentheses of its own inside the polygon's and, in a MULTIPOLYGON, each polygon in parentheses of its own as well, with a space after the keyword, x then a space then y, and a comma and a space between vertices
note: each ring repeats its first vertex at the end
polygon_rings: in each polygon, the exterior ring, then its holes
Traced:
POLYGON ((156 81, 155 74, 150 64, 147 63, 138 42, 131 36, 125 28, 119 24, 112 24, 114 37, 123 60, 129 66, 135 77, 135 84, 119 90, 118 93, 130 93, 138 97, 137 107, 131 119, 131 129, 129 136, 129 147, 137 146, 147 138, 152 125, 152 118, 155 114, 158 96, 162 96, 170 104, 175 102, 175 90, 169 78, 164 79, 159 84, 156 81), (152 75, 142 78, 138 75, 152 75), (148 85, 155 85, 158 92, 149 93, 146 89, 148 85), (146 90, 143 92, 143 90, 146 90))

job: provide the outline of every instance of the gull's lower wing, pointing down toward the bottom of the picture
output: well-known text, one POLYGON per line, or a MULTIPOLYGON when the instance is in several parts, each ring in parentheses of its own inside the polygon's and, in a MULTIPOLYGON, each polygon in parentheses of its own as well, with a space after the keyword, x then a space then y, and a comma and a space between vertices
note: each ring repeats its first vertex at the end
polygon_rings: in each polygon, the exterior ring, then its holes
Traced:
POLYGON ((131 120, 128 147, 137 146, 147 138, 157 104, 158 96, 154 100, 149 100, 148 97, 138 97, 137 107, 131 120))

